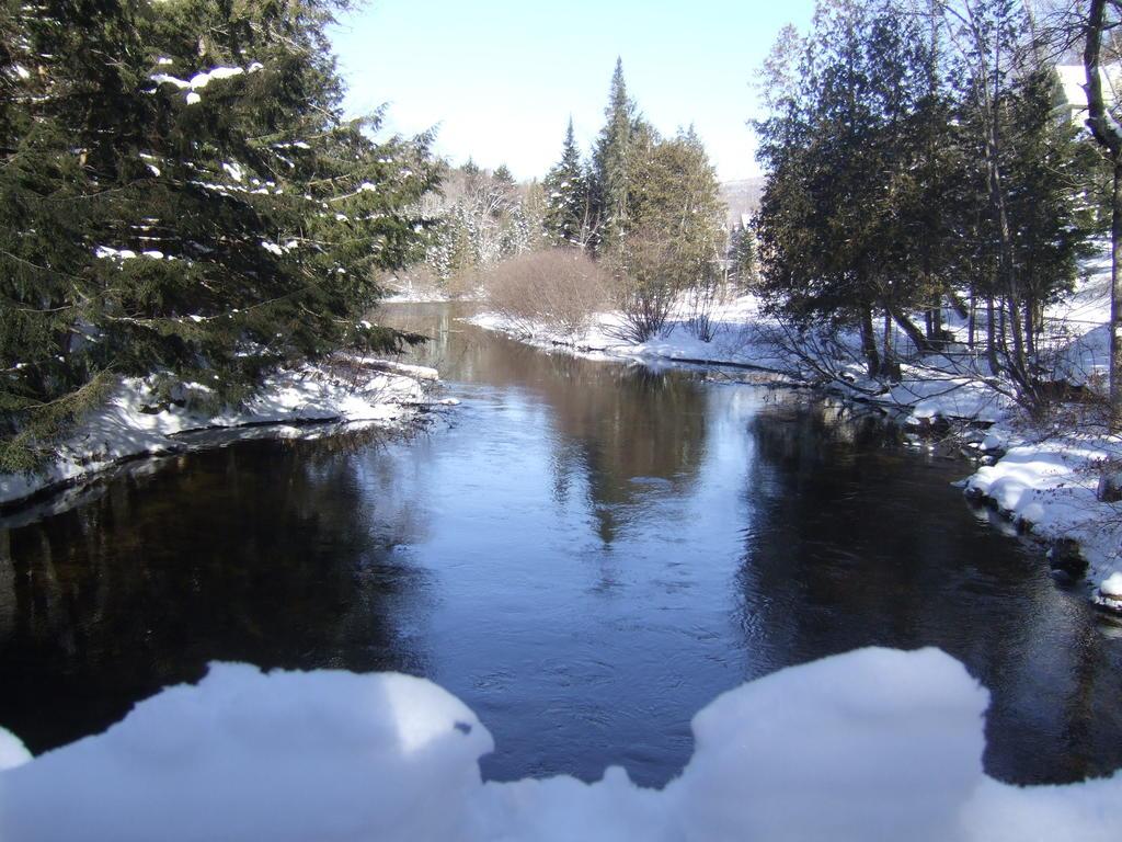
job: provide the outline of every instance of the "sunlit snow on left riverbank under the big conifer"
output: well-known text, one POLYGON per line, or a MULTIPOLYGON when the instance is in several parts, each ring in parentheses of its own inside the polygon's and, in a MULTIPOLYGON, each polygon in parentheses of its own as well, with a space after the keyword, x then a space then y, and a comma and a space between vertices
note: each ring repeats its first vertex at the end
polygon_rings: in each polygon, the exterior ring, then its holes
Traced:
MULTIPOLYGON (((175 437, 193 430, 275 425, 276 438, 295 438, 293 424, 403 422, 426 402, 432 368, 387 360, 339 357, 331 364, 280 370, 239 410, 208 414, 174 404, 157 406, 150 383, 123 381, 105 404, 64 440, 58 458, 42 474, 0 474, 0 504, 16 503, 53 486, 82 481, 117 463, 183 449, 175 437)), ((205 397, 205 384, 185 384, 182 396, 205 397)))

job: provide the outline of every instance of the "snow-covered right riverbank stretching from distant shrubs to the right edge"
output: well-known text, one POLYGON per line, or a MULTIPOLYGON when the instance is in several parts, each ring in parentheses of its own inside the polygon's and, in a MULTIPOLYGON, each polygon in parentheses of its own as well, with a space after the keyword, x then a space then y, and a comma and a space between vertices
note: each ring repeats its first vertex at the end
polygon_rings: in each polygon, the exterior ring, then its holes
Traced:
MULTIPOLYGON (((1054 326, 1052 377, 1086 395, 1089 403, 1104 387, 1107 372, 1107 280, 1096 271, 1046 313, 1054 326)), ((794 335, 767 315, 754 295, 714 306, 708 313, 708 341, 699 338, 691 317, 689 303, 680 302, 666 330, 646 342, 620 338, 618 313, 598 313, 579 332, 494 312, 471 321, 530 345, 565 348, 590 358, 754 369, 880 406, 917 432, 958 434, 963 451, 981 463, 964 481, 965 492, 1049 544, 1057 564, 1061 561, 1057 548, 1063 548, 1066 568, 1078 569, 1085 562, 1096 603, 1122 611, 1122 503, 1097 496, 1103 472, 1122 464, 1122 438, 1110 434, 1086 405, 1060 405, 1042 422, 1029 418, 1013 399, 1010 383, 982 374, 984 361, 967 349, 965 319, 953 311, 945 314, 956 340, 954 350, 912 354, 901 363, 900 381, 886 384, 868 377, 855 333, 794 335), (1073 548, 1079 557, 1074 561, 1073 548)), ((890 341, 898 348, 904 345, 902 337, 890 341)))

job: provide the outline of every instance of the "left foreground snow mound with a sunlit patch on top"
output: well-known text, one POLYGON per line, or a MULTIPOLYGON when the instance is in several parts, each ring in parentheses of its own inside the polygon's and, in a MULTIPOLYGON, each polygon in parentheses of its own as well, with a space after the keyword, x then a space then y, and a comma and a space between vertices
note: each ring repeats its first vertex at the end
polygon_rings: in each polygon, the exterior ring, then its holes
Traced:
POLYGON ((490 734, 420 678, 211 665, 0 777, 4 840, 456 840, 490 734))

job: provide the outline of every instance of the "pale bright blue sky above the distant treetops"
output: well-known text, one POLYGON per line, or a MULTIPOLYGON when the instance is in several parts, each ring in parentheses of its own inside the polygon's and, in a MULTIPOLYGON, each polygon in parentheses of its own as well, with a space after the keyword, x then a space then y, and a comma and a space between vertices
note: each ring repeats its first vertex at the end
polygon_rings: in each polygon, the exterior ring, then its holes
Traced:
POLYGON ((588 153, 616 57, 664 135, 693 123, 721 181, 758 174, 746 121, 780 29, 806 30, 812 0, 370 0, 332 30, 349 115, 388 106, 385 128, 436 127, 435 152, 541 179, 570 116, 588 153))

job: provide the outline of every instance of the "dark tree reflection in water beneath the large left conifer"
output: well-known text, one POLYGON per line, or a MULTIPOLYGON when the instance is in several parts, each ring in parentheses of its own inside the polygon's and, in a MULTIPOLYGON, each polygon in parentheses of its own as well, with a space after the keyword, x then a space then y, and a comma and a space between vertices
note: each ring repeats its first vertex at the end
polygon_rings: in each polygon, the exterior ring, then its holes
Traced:
POLYGON ((373 537, 347 458, 248 443, 0 531, 0 725, 40 751, 210 660, 417 671, 423 583, 373 537))

